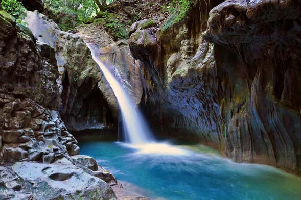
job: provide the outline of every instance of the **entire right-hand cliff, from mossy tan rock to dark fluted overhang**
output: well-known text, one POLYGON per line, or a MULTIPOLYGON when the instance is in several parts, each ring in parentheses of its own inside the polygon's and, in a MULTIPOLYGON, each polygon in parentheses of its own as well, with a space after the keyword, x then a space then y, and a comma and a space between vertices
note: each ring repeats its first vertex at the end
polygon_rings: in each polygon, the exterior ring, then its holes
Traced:
POLYGON ((196 0, 161 26, 133 24, 153 126, 237 162, 300 173, 300 6, 196 0))

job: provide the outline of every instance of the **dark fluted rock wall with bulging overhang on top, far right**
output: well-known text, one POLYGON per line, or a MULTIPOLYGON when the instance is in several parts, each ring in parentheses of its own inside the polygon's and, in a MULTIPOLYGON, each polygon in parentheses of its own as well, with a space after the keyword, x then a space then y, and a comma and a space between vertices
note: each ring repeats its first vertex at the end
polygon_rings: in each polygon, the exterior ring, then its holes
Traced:
POLYGON ((225 1, 210 13, 227 155, 300 173, 301 4, 225 1), (230 47, 230 48, 229 48, 230 47))

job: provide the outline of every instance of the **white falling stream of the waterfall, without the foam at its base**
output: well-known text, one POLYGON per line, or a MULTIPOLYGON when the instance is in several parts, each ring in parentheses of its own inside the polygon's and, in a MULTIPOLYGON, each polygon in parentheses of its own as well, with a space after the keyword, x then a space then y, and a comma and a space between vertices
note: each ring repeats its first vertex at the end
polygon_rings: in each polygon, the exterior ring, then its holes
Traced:
POLYGON ((111 73, 110 69, 103 64, 92 46, 88 42, 86 42, 86 44, 91 51, 92 58, 100 67, 117 98, 119 108, 121 110, 123 134, 126 142, 129 142, 131 144, 144 144, 153 142, 154 139, 150 128, 145 122, 144 117, 135 107, 129 94, 125 91, 122 84, 117 80, 117 78, 111 73))

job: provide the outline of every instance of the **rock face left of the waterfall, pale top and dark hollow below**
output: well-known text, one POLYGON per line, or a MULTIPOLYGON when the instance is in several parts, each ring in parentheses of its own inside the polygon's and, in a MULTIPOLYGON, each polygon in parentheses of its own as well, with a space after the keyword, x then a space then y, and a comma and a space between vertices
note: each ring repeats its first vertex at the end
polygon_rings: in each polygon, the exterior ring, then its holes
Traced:
MULTIPOLYGON (((111 127, 118 115, 111 114, 118 108, 117 102, 106 103, 115 97, 83 40, 60 31, 57 24, 37 12, 28 11, 25 21, 39 42, 54 49, 59 70, 59 112, 68 130, 111 127)), ((53 55, 44 49, 45 54, 53 55)))

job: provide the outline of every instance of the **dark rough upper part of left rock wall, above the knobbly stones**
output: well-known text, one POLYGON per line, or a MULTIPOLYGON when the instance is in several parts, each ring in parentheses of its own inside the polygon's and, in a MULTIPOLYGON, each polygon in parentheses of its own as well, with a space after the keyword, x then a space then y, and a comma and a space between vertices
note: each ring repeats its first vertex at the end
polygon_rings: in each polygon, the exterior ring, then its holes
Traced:
POLYGON ((56 109, 57 70, 47 59, 41 60, 35 41, 7 13, 0 12, 0 92, 56 109))

